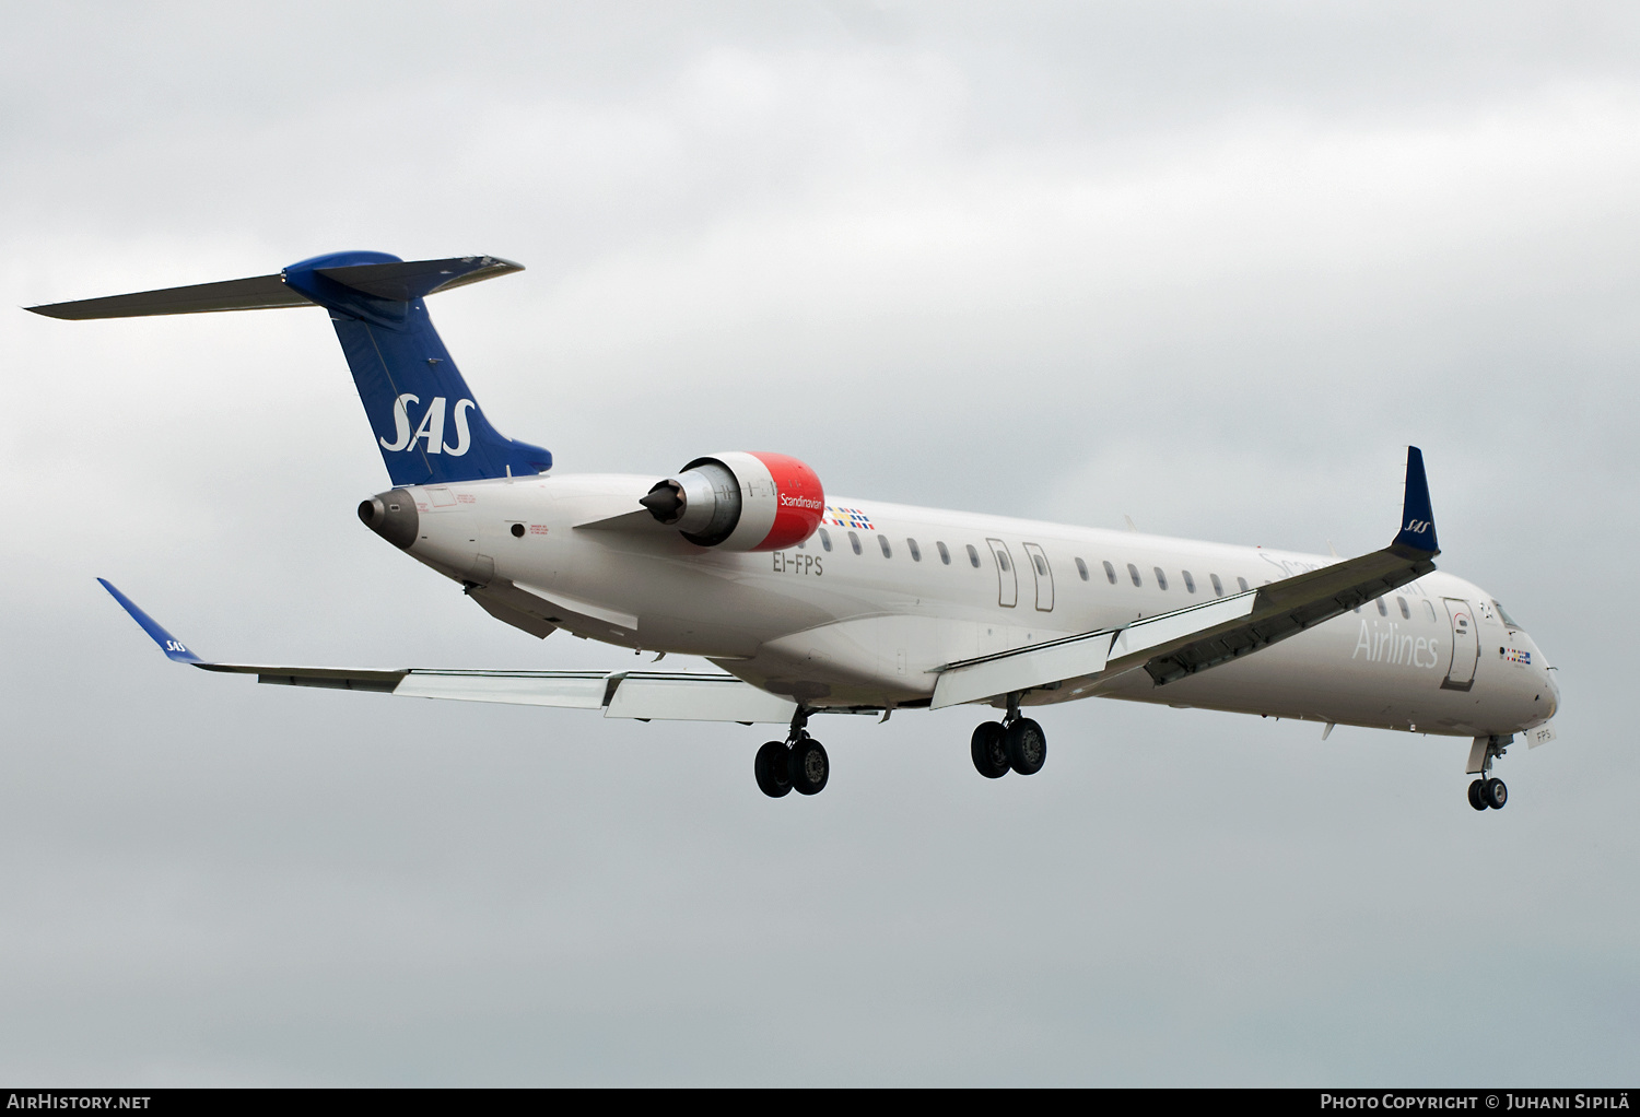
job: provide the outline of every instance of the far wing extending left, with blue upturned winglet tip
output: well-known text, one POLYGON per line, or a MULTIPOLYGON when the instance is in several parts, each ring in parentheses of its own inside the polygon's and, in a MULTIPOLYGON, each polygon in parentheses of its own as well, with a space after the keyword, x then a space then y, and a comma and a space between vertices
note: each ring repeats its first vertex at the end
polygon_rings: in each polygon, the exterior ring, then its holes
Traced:
POLYGON ((136 602, 103 584, 131 618, 175 663, 203 671, 254 674, 257 682, 336 691, 374 691, 412 699, 507 702, 604 710, 604 717, 674 722, 790 723, 797 704, 731 674, 686 671, 444 671, 430 668, 287 668, 208 663, 166 631, 136 602))

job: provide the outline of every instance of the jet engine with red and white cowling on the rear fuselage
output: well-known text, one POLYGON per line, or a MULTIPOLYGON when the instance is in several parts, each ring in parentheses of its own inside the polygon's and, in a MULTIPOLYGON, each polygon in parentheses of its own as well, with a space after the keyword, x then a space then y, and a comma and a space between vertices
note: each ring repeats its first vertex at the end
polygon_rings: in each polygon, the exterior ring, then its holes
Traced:
POLYGON ((825 492, 815 471, 795 458, 736 449, 695 458, 641 504, 697 546, 779 551, 815 533, 825 492))

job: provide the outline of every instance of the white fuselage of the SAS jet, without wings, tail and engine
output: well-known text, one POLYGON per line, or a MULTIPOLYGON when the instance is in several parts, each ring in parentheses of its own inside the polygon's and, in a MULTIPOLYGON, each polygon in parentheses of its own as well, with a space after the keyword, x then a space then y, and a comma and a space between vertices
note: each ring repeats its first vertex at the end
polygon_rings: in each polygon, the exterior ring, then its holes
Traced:
MULTIPOLYGON (((800 546, 723 553, 638 507, 653 481, 412 487, 418 538, 407 549, 456 581, 510 582, 576 635, 705 656, 809 707, 925 705, 950 663, 1337 561, 846 497, 828 497, 823 535, 800 546)), ((1532 638, 1446 572, 1166 686, 1140 671, 1023 702, 1096 694, 1453 736, 1522 732, 1560 700, 1532 638)))

